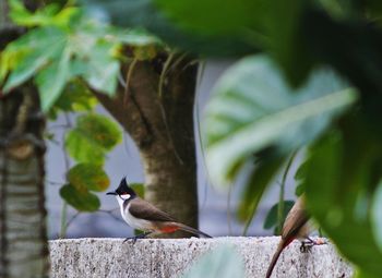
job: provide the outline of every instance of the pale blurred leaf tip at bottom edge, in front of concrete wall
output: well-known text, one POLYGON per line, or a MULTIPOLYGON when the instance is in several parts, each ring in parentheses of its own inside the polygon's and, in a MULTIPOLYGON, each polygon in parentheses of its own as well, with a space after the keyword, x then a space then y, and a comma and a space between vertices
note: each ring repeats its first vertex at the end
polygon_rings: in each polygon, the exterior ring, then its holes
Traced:
POLYGON ((226 244, 204 254, 182 277, 232 278, 244 276, 244 265, 240 254, 235 247, 226 244))

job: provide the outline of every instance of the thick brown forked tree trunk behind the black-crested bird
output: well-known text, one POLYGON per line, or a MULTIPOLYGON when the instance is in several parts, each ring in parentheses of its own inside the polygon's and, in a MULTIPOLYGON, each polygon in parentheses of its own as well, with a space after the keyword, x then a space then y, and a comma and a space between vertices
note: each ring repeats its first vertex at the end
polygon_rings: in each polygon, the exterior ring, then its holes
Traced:
MULTIPOLYGON (((139 147, 146 176, 145 198, 198 228, 193 132, 196 65, 179 59, 165 68, 163 74, 163 58, 136 62, 127 78, 128 89, 120 88, 116 98, 96 95, 139 147)), ((179 232, 169 237, 186 235, 179 232)))

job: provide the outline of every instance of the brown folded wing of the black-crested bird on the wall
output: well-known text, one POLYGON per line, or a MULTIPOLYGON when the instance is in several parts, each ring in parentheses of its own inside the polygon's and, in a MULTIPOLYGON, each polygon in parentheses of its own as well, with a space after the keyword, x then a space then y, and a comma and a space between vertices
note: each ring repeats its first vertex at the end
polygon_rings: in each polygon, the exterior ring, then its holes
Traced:
POLYGON ((142 198, 134 198, 130 202, 130 214, 136 218, 151 221, 175 221, 168 214, 156 208, 142 198))

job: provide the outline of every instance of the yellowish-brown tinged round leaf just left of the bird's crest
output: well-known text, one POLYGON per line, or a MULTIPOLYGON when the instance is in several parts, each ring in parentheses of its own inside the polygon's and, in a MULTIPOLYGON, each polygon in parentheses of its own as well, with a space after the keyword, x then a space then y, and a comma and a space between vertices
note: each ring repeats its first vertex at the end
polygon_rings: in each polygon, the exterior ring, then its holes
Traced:
POLYGON ((110 180, 99 165, 79 164, 68 171, 69 183, 77 190, 105 191, 110 180))

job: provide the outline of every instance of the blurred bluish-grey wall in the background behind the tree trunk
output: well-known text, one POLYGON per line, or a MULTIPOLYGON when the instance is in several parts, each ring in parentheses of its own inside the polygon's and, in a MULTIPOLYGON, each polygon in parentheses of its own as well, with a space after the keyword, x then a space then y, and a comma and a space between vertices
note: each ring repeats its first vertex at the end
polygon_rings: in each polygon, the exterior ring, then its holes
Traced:
MULTIPOLYGON (((196 101, 200 110, 200 119, 203 117, 203 108, 208 100, 211 88, 230 63, 225 61, 211 61, 206 63, 203 76, 198 86, 196 101)), ((102 107, 98 108, 98 111, 107 114, 102 107)), ((74 122, 74 117, 70 117, 72 123, 74 122)), ((61 128, 64 123, 64 118, 60 117, 56 122, 49 122, 48 124, 48 131, 55 133, 57 141, 56 143, 48 142, 48 152, 46 155, 46 195, 50 239, 58 238, 61 221, 62 200, 59 196, 59 189, 64 181, 65 172, 62 150, 63 130, 61 128)), ((195 131, 199 132, 198 124, 195 131)), ((235 220, 235 207, 241 192, 240 184, 237 184, 231 192, 231 213, 229 217, 227 213, 228 194, 227 192, 216 192, 214 188, 208 185, 200 145, 198 146, 198 165, 200 228, 212 235, 241 234, 243 227, 235 220)), ((124 134, 123 143, 110 153, 105 168, 111 179, 111 188, 116 188, 123 176, 127 176, 131 182, 144 182, 138 149, 128 134, 124 134)), ((296 166, 293 167, 291 172, 294 172, 295 168, 296 166)), ((286 195, 288 198, 294 198, 293 174, 288 178, 286 195)), ((105 193, 99 193, 98 196, 102 201, 102 209, 110 210, 116 208, 116 210, 112 211, 112 215, 104 211, 79 215, 69 226, 68 238, 128 237, 132 234, 132 229, 121 221, 116 200, 106 196, 105 193)), ((250 227, 249 234, 271 234, 271 231, 263 230, 262 226, 267 209, 277 202, 277 196, 278 186, 272 186, 260 205, 258 216, 250 227)), ((68 211, 68 220, 70 220, 75 215, 75 210, 70 207, 68 211)))

